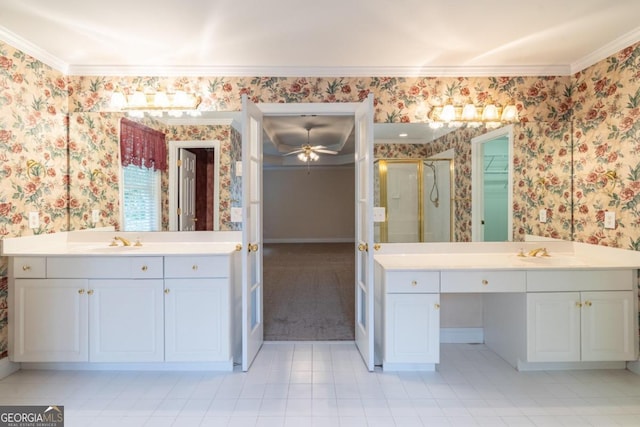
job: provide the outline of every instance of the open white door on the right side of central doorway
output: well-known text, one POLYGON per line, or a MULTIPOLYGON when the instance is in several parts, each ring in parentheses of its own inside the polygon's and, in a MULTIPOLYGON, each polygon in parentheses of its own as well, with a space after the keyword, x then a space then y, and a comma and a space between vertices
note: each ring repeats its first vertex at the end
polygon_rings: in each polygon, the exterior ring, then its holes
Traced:
POLYGON ((373 371, 373 95, 355 112, 356 345, 373 371))

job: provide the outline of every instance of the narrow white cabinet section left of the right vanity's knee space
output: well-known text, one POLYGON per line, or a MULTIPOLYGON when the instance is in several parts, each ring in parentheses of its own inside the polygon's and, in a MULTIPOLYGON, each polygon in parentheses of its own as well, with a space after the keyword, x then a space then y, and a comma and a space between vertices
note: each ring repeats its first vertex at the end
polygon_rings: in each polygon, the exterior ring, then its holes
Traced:
POLYGON ((434 370, 440 362, 440 273, 378 269, 377 347, 385 370, 434 370))

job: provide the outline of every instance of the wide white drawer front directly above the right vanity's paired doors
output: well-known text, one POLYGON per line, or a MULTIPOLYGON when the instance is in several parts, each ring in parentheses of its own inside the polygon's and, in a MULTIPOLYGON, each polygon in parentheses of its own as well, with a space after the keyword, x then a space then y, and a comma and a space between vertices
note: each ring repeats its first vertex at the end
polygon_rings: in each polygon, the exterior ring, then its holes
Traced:
POLYGON ((635 283, 634 270, 527 271, 527 291, 627 291, 635 283))

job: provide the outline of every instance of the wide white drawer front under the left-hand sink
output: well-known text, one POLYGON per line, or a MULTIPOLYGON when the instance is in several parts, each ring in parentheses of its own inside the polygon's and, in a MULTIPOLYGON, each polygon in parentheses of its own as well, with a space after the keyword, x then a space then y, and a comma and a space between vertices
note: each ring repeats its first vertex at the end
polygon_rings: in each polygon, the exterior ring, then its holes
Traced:
POLYGON ((47 277, 161 279, 162 257, 49 257, 47 277))

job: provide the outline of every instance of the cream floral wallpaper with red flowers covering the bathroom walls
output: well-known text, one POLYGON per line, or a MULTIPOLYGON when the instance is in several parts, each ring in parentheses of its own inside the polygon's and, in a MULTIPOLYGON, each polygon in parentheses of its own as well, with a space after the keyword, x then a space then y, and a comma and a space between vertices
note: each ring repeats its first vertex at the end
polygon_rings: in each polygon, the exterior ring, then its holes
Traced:
MULTIPOLYGON (((113 146, 118 114, 110 110, 109 101, 116 87, 131 91, 141 85, 197 91, 203 98, 201 108, 220 111, 240 110, 242 94, 273 103, 355 102, 373 93, 376 122, 423 121, 434 104, 449 97, 456 103, 468 98, 482 103, 491 97, 503 104, 513 98, 520 114, 514 164, 517 234, 573 237, 638 250, 639 58, 640 44, 635 44, 579 73, 558 77, 65 76, 0 42, 0 238, 88 227, 89 212, 96 206, 102 221, 115 225, 117 175, 112 168, 118 161, 113 146), (567 178, 571 166, 573 191, 567 178), (541 208, 551 218, 544 225, 535 221, 541 208), (616 214, 613 230, 603 228, 607 210, 616 214), (32 211, 39 212, 40 219, 33 230, 27 220, 32 211)), ((229 150, 223 160, 229 175, 221 177, 227 189, 223 203, 239 204, 240 180, 233 173, 240 158, 237 132, 186 126, 168 127, 166 133, 168 139, 223 141, 223 150, 229 150)), ((462 191, 456 238, 464 240, 470 204, 462 178, 469 162, 462 149, 467 136, 450 138, 437 145, 461 149, 456 152, 456 185, 462 191)), ((4 259, 0 275, 6 275, 4 259)), ((0 356, 6 353, 2 289, 0 356)))

